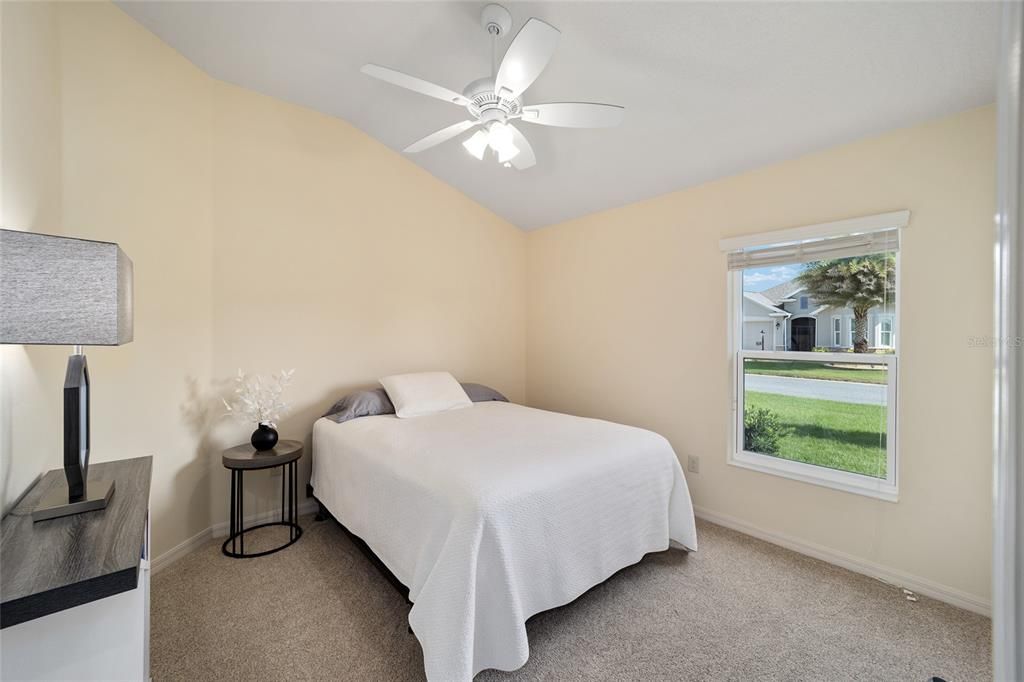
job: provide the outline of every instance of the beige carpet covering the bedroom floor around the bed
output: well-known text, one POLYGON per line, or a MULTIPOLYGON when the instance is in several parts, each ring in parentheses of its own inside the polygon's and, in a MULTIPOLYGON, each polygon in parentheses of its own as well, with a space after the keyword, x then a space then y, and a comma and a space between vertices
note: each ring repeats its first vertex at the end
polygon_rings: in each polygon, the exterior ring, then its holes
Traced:
MULTIPOLYGON (((210 543, 154 578, 154 679, 423 678, 403 600, 333 521, 302 524, 278 554, 228 559, 210 543)), ((988 619, 721 526, 698 534, 699 552, 650 555, 535 616, 526 665, 477 680, 991 679, 988 619)))

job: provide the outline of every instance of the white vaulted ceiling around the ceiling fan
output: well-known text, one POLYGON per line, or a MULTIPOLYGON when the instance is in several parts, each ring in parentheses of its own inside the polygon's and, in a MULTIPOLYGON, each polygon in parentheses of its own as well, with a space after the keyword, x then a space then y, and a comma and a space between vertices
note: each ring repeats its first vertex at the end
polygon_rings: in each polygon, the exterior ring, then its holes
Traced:
MULTIPOLYGON (((359 73, 462 91, 489 74, 485 3, 122 2, 213 77, 401 150, 465 111, 359 73)), ((994 100, 1000 7, 949 2, 507 2, 561 32, 523 99, 626 106, 614 129, 528 124, 526 171, 462 137, 415 163, 529 229, 994 100)), ((511 36, 501 43, 501 51, 511 36)), ((469 133, 463 135, 468 136, 469 133)))

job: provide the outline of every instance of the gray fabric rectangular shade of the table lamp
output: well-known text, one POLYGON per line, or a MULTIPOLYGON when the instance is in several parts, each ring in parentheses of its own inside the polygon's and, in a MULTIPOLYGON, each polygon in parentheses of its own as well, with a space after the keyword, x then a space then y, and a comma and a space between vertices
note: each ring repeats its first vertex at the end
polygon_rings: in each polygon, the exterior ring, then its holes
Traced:
POLYGON ((118 346, 132 334, 121 247, 0 229, 0 343, 118 346))

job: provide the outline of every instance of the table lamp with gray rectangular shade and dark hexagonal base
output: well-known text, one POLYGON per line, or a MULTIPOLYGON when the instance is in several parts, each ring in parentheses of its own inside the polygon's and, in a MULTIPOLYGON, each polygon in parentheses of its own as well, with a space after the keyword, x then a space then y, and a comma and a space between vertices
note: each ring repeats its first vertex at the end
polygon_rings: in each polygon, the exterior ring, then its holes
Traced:
POLYGON ((63 388, 68 485, 35 521, 103 509, 113 480, 89 480, 89 369, 82 346, 132 340, 132 263, 117 244, 0 229, 0 343, 69 345, 63 388))

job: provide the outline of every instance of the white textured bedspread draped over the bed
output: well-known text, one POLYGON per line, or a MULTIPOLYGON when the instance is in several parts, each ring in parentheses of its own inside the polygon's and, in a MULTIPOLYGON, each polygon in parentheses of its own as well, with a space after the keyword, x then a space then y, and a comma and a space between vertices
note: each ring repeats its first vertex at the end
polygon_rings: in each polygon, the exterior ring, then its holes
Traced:
POLYGON ((429 680, 515 670, 525 622, 670 539, 696 549, 672 446, 507 402, 313 426, 316 497, 410 588, 429 680))

